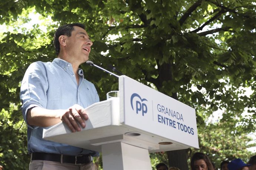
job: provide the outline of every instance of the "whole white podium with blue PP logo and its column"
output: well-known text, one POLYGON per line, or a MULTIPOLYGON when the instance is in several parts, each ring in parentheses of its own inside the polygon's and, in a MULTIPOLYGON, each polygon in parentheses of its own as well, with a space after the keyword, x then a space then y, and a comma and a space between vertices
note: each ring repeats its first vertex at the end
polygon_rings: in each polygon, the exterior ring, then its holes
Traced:
POLYGON ((149 152, 198 148, 195 109, 127 76, 119 95, 86 108, 81 132, 59 123, 43 138, 102 152, 104 170, 151 170, 149 152))

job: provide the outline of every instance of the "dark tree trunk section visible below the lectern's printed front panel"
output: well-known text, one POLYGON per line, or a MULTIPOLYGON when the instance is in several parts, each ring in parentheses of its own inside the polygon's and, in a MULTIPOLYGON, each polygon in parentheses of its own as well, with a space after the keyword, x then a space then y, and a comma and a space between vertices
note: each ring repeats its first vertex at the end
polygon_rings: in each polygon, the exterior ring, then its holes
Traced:
POLYGON ((168 151, 169 167, 177 167, 180 170, 188 170, 187 163, 188 149, 168 151))

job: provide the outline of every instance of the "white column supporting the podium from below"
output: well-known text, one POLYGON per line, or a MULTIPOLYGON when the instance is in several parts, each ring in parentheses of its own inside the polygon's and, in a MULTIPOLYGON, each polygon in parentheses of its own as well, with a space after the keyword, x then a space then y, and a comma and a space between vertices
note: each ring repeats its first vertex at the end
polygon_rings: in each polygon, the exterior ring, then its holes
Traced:
POLYGON ((102 145, 104 170, 152 170, 147 149, 123 142, 102 145))

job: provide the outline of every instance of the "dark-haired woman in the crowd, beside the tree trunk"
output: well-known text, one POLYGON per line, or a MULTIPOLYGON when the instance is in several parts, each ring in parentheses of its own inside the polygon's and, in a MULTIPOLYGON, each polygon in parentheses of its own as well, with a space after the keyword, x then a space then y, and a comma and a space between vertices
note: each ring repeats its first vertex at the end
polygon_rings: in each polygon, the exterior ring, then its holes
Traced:
POLYGON ((209 157, 201 152, 195 153, 190 162, 191 170, 214 170, 209 157))

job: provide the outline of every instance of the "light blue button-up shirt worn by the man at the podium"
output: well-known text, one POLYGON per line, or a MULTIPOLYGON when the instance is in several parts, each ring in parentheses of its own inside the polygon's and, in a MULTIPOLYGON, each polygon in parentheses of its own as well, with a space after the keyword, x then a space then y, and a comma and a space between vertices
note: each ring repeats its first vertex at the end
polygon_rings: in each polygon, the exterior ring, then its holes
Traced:
MULTIPOLYGON (((79 69, 79 85, 72 65, 62 59, 55 58, 52 62, 34 62, 24 75, 20 87, 22 115, 27 123, 27 111, 35 106, 45 109, 68 109, 74 104, 83 108, 99 102, 95 86, 83 78, 79 69)), ((32 152, 58 153, 67 155, 91 154, 97 152, 69 146, 42 139, 43 128, 30 126, 27 128, 27 149, 32 152)), ((50 128, 50 127, 48 127, 50 128)), ((45 129, 48 129, 45 128, 45 129)))

